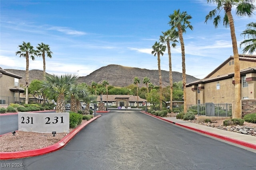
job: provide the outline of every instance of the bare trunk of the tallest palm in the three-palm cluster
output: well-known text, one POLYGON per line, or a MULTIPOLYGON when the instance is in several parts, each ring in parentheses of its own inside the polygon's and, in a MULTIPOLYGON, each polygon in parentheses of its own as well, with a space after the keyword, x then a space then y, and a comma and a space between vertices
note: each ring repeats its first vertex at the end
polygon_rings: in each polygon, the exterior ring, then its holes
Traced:
POLYGON ((178 25, 178 34, 180 39, 181 56, 182 56, 182 86, 183 86, 183 99, 184 99, 184 113, 187 113, 185 47, 184 47, 184 40, 182 36, 182 28, 180 25, 178 25))

